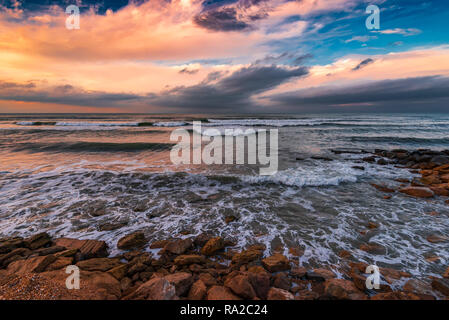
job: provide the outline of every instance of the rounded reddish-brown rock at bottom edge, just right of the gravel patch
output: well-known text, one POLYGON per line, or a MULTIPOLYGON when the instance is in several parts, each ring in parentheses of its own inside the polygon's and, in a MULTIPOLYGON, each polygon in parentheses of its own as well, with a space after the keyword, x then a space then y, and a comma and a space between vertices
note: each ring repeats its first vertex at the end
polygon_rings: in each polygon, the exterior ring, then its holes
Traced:
POLYGON ((161 277, 155 277, 140 285, 136 291, 124 297, 125 300, 175 300, 175 286, 161 277))

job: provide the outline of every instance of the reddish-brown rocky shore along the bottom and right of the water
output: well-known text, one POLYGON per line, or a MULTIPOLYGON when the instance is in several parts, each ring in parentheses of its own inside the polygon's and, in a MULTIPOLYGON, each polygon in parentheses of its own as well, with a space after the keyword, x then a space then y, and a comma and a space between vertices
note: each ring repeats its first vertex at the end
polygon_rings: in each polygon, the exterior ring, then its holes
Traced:
MULTIPOLYGON (((345 153, 348 151, 334 151, 345 153)), ((366 151, 364 151, 366 152, 366 151)), ((418 178, 400 187, 373 184, 385 193, 430 199, 449 205, 449 152, 375 150, 360 161, 406 167, 418 178), (447 198, 447 199, 446 199, 447 198)), ((363 170, 363 166, 355 167, 363 170)), ((429 213, 438 215, 438 212, 429 213)), ((364 228, 378 226, 371 223, 364 228)), ((363 231, 361 231, 363 232, 363 231)), ((431 243, 449 242, 447 234, 431 243)), ((262 244, 236 250, 232 240, 201 234, 151 242, 136 231, 117 239, 120 255, 110 257, 104 241, 52 238, 0 239, 0 299, 149 299, 149 300, 434 300, 449 298, 449 267, 441 277, 414 279, 404 270, 380 268, 381 286, 366 288, 367 264, 349 251, 338 266, 307 269, 301 248, 265 255, 262 244), (150 250, 149 250, 150 249, 150 250), (288 251, 288 257, 284 255, 288 251), (67 289, 66 267, 80 270, 80 289, 67 289), (398 287, 398 283, 402 284, 398 287), (393 285, 394 284, 394 285, 393 285)), ((380 250, 374 243, 367 252, 380 250)))

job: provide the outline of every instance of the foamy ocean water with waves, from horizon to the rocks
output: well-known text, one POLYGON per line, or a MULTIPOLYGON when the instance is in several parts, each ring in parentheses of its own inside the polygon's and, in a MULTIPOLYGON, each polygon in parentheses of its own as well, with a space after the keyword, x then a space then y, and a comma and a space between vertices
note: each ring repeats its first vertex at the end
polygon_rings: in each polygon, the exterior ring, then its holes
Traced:
POLYGON ((396 179, 418 175, 361 160, 361 150, 396 148, 449 149, 449 115, 3 114, 0 237, 46 231, 101 239, 116 254, 117 240, 135 230, 150 241, 207 232, 236 248, 264 243, 266 253, 299 247, 301 265, 337 273, 338 253, 347 250, 357 261, 438 276, 449 248, 426 237, 449 231, 444 197, 384 199, 372 183, 397 188, 396 179), (170 134, 191 130, 194 120, 221 132, 278 129, 278 172, 174 165, 170 134), (368 222, 379 228, 364 232, 368 222), (366 242, 384 251, 360 250, 366 242))

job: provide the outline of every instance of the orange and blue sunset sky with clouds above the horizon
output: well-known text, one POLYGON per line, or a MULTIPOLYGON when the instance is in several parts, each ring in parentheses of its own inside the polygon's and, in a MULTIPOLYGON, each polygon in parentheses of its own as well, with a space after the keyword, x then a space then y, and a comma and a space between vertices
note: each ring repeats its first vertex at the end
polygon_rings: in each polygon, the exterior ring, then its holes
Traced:
POLYGON ((0 113, 449 112, 447 21, 442 0, 0 0, 0 113))

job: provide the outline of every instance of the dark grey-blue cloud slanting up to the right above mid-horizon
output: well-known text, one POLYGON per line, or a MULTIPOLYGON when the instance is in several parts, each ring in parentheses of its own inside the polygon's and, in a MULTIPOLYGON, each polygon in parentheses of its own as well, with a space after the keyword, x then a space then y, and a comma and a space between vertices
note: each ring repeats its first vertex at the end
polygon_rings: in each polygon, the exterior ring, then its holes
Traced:
POLYGON ((202 82, 189 87, 176 87, 148 98, 151 105, 183 110, 218 112, 243 111, 254 107, 251 97, 275 88, 281 83, 308 74, 307 68, 285 69, 277 66, 242 68, 216 83, 202 82))

